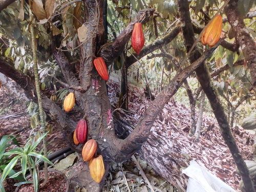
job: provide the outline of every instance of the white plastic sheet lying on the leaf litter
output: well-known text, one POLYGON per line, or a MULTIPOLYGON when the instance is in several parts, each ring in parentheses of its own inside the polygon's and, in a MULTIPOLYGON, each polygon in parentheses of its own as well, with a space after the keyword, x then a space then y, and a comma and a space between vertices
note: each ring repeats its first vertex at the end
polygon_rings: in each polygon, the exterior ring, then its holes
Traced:
POLYGON ((189 177, 187 192, 236 192, 195 160, 182 173, 189 177))

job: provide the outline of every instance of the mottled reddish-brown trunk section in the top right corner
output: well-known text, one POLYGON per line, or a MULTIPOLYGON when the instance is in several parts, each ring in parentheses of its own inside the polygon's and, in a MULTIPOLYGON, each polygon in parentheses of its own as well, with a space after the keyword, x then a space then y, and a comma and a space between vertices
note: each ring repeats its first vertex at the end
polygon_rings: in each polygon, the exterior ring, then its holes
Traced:
POLYGON ((252 86, 256 89, 256 45, 238 11, 238 1, 231 0, 224 11, 227 15, 228 23, 236 34, 236 39, 240 44, 245 60, 247 61, 252 78, 252 86))

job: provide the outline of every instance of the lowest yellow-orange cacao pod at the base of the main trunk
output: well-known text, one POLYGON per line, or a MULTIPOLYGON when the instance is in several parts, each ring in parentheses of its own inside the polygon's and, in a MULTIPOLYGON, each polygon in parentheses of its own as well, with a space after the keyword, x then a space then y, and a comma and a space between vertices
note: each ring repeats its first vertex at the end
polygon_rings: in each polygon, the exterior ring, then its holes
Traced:
POLYGON ((97 183, 100 183, 105 173, 103 157, 101 155, 98 155, 97 157, 93 157, 89 161, 89 169, 90 169, 90 174, 93 180, 97 183))

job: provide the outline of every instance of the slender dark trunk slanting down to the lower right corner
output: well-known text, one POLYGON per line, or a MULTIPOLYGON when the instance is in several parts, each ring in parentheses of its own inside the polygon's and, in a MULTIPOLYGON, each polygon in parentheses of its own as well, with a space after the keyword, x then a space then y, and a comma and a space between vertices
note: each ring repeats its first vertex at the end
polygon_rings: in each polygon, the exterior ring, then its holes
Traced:
MULTIPOLYGON (((184 25, 182 26, 182 34, 185 39, 185 45, 187 47, 187 52, 194 45, 194 42, 195 42, 193 25, 191 23, 188 6, 189 6, 189 4, 188 4, 187 0, 178 0, 178 9, 179 9, 181 22, 184 23, 184 25)), ((200 53, 199 53, 199 51, 195 50, 189 56, 189 61, 194 62, 195 60, 197 60, 197 58, 200 58, 200 53)), ((230 131, 230 126, 227 121, 227 117, 224 113, 224 109, 221 105, 221 102, 220 102, 218 96, 217 96, 217 93, 215 92, 214 88, 211 85, 210 74, 208 72, 208 69, 207 69, 207 66, 205 65, 205 63, 203 63, 201 66, 199 66, 196 69, 196 73, 198 76, 198 80, 203 88, 203 91, 206 94, 206 96, 210 102, 211 108, 215 114, 217 121, 218 121, 222 137, 225 140, 225 143, 227 144, 227 146, 231 152, 234 162, 236 162, 236 164, 237 164, 237 167, 239 169, 239 172, 241 174, 242 180, 245 185, 245 189, 248 192, 250 192, 250 191, 252 192, 252 191, 254 191, 254 188, 253 188, 250 176, 249 176, 249 170, 243 160, 241 153, 239 152, 236 141, 234 140, 233 135, 230 131)))

